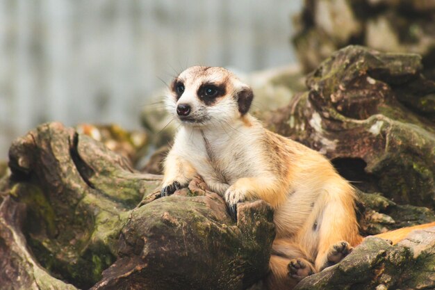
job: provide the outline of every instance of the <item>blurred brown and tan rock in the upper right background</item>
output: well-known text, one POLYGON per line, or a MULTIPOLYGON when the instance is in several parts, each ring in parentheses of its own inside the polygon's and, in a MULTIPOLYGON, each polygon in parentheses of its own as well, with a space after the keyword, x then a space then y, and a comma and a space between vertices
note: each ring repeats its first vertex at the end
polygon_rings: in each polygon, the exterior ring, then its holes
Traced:
POLYGON ((295 17, 295 49, 304 70, 347 45, 420 54, 435 79, 434 1, 313 0, 295 17))

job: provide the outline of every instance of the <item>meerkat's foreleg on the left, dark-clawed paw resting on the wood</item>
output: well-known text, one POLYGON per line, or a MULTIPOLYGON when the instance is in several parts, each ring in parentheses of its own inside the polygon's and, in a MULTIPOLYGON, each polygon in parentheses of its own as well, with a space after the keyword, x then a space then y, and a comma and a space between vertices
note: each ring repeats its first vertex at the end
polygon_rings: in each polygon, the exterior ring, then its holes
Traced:
POLYGON ((165 159, 161 196, 172 195, 177 189, 186 187, 196 173, 188 161, 177 156, 171 150, 165 159))

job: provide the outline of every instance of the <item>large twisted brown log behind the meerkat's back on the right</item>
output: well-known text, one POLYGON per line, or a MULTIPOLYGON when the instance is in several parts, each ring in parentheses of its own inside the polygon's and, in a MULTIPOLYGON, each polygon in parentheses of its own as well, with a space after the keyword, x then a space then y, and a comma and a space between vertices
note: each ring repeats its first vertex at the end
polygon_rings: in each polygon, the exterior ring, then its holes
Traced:
POLYGON ((435 92, 421 70, 418 55, 347 47, 308 76, 308 92, 263 119, 326 154, 362 191, 433 209, 434 122, 397 100, 405 91, 418 95, 418 83, 435 92))

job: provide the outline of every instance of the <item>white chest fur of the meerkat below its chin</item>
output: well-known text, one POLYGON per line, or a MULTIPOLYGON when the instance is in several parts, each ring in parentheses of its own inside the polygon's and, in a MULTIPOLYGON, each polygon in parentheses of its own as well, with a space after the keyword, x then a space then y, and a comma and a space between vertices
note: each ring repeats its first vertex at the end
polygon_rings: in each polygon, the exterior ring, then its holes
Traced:
POLYGON ((260 174, 263 164, 258 158, 257 135, 255 129, 243 126, 182 127, 172 150, 187 160, 213 191, 223 194, 237 179, 260 174))

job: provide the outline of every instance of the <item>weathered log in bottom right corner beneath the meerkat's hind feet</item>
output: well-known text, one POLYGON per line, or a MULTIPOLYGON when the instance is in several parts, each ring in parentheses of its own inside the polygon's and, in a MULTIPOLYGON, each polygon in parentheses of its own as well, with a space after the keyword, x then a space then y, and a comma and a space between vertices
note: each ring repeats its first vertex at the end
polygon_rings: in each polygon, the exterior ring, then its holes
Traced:
POLYGON ((374 237, 335 266, 306 277, 295 290, 434 289, 435 227, 411 232, 398 245, 374 237))

